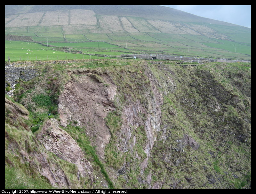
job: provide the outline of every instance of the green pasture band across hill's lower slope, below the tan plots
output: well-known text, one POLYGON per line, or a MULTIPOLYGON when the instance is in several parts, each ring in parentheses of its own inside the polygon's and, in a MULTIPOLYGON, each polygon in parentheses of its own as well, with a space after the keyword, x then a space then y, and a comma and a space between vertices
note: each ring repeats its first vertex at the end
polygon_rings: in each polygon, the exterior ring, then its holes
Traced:
MULTIPOLYGON (((158 32, 145 33, 120 31, 118 33, 91 33, 88 31, 88 33, 84 34, 65 34, 65 32, 62 34, 60 33, 61 28, 56 26, 54 26, 54 28, 50 28, 49 26, 30 26, 27 28, 16 27, 5 28, 5 30, 6 34, 8 33, 17 36, 30 36, 31 39, 35 42, 41 42, 47 45, 48 41, 48 45, 54 47, 69 47, 72 48, 72 50, 81 50, 86 54, 94 53, 105 54, 109 56, 120 56, 120 54, 123 54, 122 51, 125 51, 126 53, 129 52, 131 54, 142 53, 248 60, 251 59, 250 33, 231 33, 231 29, 228 27, 224 29, 221 29, 218 25, 213 27, 215 30, 226 33, 230 40, 219 40, 216 38, 194 34, 168 34, 158 32)), ((237 31, 239 31, 239 28, 237 31)), ((13 47, 15 47, 15 45, 13 47)), ((32 54, 29 54, 28 56, 26 53, 19 54, 19 50, 9 49, 10 47, 6 47, 6 56, 12 56, 13 60, 20 60, 20 57, 21 60, 43 60, 42 57, 46 54, 42 53, 42 55, 36 55, 36 53, 33 53, 33 56, 34 54, 37 56, 36 59, 36 57, 31 56, 32 54), (13 56, 13 54, 15 54, 15 56, 13 56), (38 57, 40 57, 40 59, 38 59, 38 57)), ((51 54, 53 54, 53 52, 51 54)), ((52 59, 66 59, 66 57, 67 59, 75 58, 74 55, 66 53, 63 55, 63 53, 56 52, 53 56, 48 55, 48 59, 49 57, 52 59)), ((76 58, 81 57, 83 58, 85 56, 76 56, 76 58)), ((47 55, 43 58, 47 60, 47 55)))

